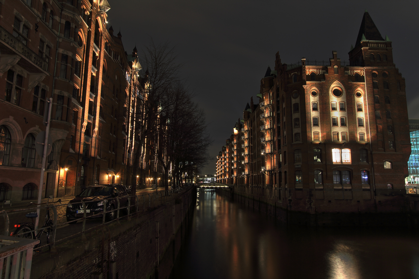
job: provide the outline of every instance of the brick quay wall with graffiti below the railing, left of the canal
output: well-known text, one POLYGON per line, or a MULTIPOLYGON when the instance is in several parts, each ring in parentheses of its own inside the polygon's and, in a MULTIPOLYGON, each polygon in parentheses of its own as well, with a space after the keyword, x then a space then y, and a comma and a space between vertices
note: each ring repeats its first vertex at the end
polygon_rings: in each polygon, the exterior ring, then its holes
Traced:
POLYGON ((194 207, 196 188, 131 220, 114 222, 34 256, 31 279, 168 278, 194 207), (104 233, 102 233, 102 231, 104 233))

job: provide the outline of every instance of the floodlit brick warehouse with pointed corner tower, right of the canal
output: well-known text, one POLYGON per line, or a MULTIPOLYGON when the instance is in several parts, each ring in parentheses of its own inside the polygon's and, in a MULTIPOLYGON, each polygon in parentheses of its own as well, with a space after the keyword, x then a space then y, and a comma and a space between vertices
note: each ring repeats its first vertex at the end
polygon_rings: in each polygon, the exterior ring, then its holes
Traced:
POLYGON ((242 160, 252 166, 243 184, 259 183, 295 211, 401 205, 411 146, 405 82, 391 45, 365 12, 349 62, 332 51, 328 62, 282 64, 277 53, 257 95, 261 125, 249 125, 247 107, 243 114, 250 148, 242 160), (247 156, 258 150, 261 156, 247 156), (259 171, 264 183, 249 179, 259 171))

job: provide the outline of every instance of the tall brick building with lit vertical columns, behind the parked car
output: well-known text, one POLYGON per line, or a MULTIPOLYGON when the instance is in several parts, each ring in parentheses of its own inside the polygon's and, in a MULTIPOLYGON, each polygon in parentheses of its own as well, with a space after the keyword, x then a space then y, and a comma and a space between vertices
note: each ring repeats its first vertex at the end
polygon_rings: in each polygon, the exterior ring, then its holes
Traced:
MULTIPOLYGON (((137 49, 107 27, 106 0, 0 2, 0 200, 75 195, 97 183, 128 183, 135 122, 146 90, 137 49), (52 98, 44 185, 35 138, 52 98)), ((145 152, 147 153, 147 152, 145 152)), ((145 182, 150 153, 140 162, 145 182)))

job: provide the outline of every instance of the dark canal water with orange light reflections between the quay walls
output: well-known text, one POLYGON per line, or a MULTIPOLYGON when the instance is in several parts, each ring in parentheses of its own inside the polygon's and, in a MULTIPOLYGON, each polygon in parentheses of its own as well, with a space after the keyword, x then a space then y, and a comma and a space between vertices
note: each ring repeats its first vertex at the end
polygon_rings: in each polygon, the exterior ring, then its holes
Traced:
POLYGON ((419 233, 285 226, 199 190, 173 278, 418 278, 419 233))

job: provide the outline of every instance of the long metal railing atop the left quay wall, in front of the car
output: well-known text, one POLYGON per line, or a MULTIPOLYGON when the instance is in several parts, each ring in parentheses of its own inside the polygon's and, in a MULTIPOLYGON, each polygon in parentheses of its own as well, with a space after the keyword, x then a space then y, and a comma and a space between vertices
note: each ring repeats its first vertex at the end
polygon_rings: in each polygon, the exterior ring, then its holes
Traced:
MULTIPOLYGON (((78 219, 74 219, 74 220, 70 220, 70 221, 67 221, 67 222, 63 222, 61 220, 62 218, 65 218, 65 215, 64 216, 59 216, 60 217, 60 222, 58 221, 59 218, 57 216, 57 208, 67 207, 68 203, 67 204, 62 204, 62 205, 52 205, 52 204, 48 204, 48 202, 47 202, 46 206, 41 206, 41 210, 45 210, 47 207, 52 208, 52 213, 53 213, 53 216, 54 216, 52 218, 52 220, 53 220, 52 225, 47 226, 47 227, 38 228, 38 230, 42 230, 42 229, 51 229, 52 230, 52 233, 50 234, 50 243, 39 246, 39 247, 37 247, 37 249, 44 248, 46 246, 50 246, 51 247, 51 250, 50 250, 51 253, 57 253, 57 250, 55 248, 55 243, 57 243, 59 241, 63 241, 65 239, 75 237, 76 235, 79 235, 79 234, 81 235, 82 240, 86 240, 85 233, 92 230, 93 228, 97 228, 101 225, 112 223, 112 222, 119 223, 119 220, 122 219, 122 218, 127 218, 127 220, 130 220, 131 216, 133 214, 146 212, 147 210, 150 210, 151 208, 155 208, 155 207, 158 207, 160 205, 165 205, 166 202, 168 202, 169 199, 176 198, 179 195, 182 195, 185 192, 189 191, 193 187, 194 186, 189 186, 189 187, 177 188, 176 190, 153 192, 153 193, 144 194, 144 195, 127 196, 128 205, 126 205, 126 206, 121 206, 121 204, 120 204, 120 200, 122 199, 122 197, 120 197, 120 198, 112 197, 112 198, 108 198, 108 199, 97 200, 98 202, 101 202, 101 201, 103 202, 103 211, 101 211, 99 213, 96 213, 94 215, 88 215, 87 216, 86 215, 87 210, 83 210, 83 217, 78 218, 78 219), (131 205, 131 197, 135 198, 135 202, 134 202, 133 205, 131 205), (106 213, 107 213, 106 212, 106 207, 107 207, 106 200, 116 200, 116 202, 117 202, 117 207, 115 209, 111 210, 112 212, 116 211, 116 218, 114 220, 110 220, 110 221, 106 220, 106 213), (121 215, 120 215, 121 210, 126 210, 126 215, 123 216, 123 217, 121 217, 121 215), (132 210, 134 210, 134 212, 132 212, 132 210), (101 224, 100 225, 95 225, 91 228, 86 229, 86 227, 85 227, 86 220, 90 219, 90 218, 93 218, 93 217, 102 217, 101 224), (73 222, 77 222, 77 221, 80 221, 80 220, 83 221, 83 224, 82 224, 81 230, 79 232, 57 239, 57 229, 62 228, 63 226, 67 225, 68 223, 73 223, 73 222)), ((83 202, 83 201, 78 202, 78 203, 72 203, 73 206, 80 205, 80 204, 82 205, 83 208, 86 209, 85 202, 83 202)), ((15 216, 16 216, 16 219, 17 219, 17 218, 19 218, 18 217, 19 213, 32 212, 34 210, 36 210, 36 206, 30 207, 30 208, 2 210, 0 213, 3 214, 4 225, 5 225, 5 229, 4 229, 2 234, 6 235, 6 236, 10 236, 12 234, 13 239, 18 241, 21 238, 14 238, 14 236, 34 232, 35 230, 26 230, 24 233, 19 233, 19 234, 16 234, 16 235, 13 232, 9 233, 10 224, 19 223, 19 222, 16 222, 15 220, 13 220, 15 216)), ((51 212, 50 212, 50 214, 51 214, 51 212)), ((41 213, 41 215, 42 215, 42 213, 41 213)), ((40 218, 41 218, 41 220, 43 220, 43 216, 41 216, 41 215, 40 215, 40 218)), ((21 220, 21 219, 19 219, 19 220, 21 220)), ((25 222, 25 223, 30 223, 30 222, 25 222)), ((36 245, 36 243, 34 245, 36 245)))

